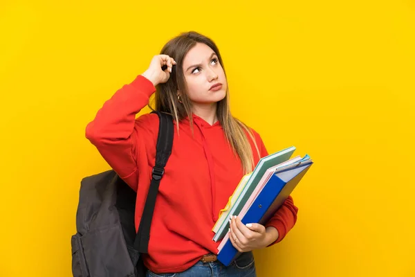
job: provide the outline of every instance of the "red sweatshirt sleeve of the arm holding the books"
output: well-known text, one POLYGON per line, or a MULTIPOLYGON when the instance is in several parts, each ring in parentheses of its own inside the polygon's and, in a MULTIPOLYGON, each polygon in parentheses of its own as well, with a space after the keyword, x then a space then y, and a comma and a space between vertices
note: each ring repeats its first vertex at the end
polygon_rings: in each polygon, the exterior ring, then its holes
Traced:
MULTIPOLYGON (((261 153, 261 157, 268 156, 268 151, 265 148, 264 142, 261 139, 261 136, 257 134, 257 141, 258 141, 258 148, 259 152, 261 153)), ((278 231, 278 238, 275 242, 268 245, 270 247, 277 242, 282 241, 282 239, 286 236, 288 231, 293 229, 295 222, 297 222, 297 212, 298 208, 294 205, 293 197, 288 196, 285 202, 282 204, 281 207, 275 212, 273 217, 266 222, 264 225, 266 228, 268 226, 273 226, 278 231)))

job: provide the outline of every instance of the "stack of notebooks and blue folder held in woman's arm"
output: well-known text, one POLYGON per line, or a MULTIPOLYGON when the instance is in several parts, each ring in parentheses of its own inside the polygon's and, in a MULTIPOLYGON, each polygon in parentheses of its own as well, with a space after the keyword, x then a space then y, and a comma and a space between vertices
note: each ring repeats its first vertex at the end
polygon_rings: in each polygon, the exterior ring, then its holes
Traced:
POLYGON ((241 179, 221 210, 212 231, 215 242, 222 240, 218 260, 223 265, 230 265, 240 254, 229 239, 230 217, 237 215, 243 224, 266 224, 313 164, 307 154, 291 159, 294 151, 291 146, 260 159, 255 169, 241 179))

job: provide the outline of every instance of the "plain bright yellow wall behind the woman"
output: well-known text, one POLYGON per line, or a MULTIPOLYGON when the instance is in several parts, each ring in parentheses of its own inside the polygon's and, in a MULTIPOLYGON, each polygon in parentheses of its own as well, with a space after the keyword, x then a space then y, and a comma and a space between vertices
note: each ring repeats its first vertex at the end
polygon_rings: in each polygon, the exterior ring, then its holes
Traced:
POLYGON ((108 169, 84 127, 183 30, 269 152, 315 161, 258 275, 415 276, 414 2, 149 2, 1 1, 0 276, 71 276, 80 179, 108 169))

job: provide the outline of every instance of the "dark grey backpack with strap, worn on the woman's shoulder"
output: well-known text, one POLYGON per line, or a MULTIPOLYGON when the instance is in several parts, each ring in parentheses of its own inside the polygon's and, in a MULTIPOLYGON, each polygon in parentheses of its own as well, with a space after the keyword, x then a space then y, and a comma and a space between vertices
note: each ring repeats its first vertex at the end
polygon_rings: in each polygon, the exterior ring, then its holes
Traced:
POLYGON ((144 277, 140 253, 147 253, 151 219, 160 179, 172 152, 172 116, 158 114, 160 125, 156 166, 138 233, 134 225, 136 193, 113 170, 81 181, 76 213, 77 233, 71 238, 74 277, 144 277))

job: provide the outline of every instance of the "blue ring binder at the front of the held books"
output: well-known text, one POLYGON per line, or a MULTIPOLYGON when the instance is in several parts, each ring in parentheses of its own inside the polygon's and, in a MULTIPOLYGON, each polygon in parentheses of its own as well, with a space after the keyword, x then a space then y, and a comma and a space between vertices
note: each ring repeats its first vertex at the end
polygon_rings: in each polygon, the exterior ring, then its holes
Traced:
MULTIPOLYGON (((243 224, 259 223, 262 225, 268 222, 277 209, 282 206, 288 196, 291 195, 295 186, 297 186, 298 182, 306 174, 312 164, 313 162, 304 166, 297 166, 295 169, 283 170, 270 177, 264 188, 246 212, 246 215, 243 216, 241 222, 243 224), (288 182, 283 180, 284 177, 282 179, 279 177, 284 175, 284 172, 288 173, 288 171, 293 170, 298 173, 288 182)), ((290 173, 295 174, 295 172, 290 173)), ((228 266, 239 256, 239 254, 241 254, 241 252, 237 251, 237 249, 232 245, 232 242, 228 240, 219 252, 218 260, 222 262, 223 265, 228 266)))

